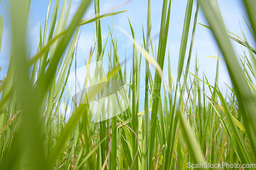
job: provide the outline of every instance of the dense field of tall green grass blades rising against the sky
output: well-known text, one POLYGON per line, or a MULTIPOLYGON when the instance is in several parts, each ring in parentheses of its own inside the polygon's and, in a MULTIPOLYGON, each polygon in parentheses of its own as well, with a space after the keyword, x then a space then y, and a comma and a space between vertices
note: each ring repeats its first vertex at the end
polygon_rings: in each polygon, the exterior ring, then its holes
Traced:
MULTIPOLYGON (((192 169, 187 166, 189 162, 250 164, 249 169, 256 169, 252 166, 256 158, 256 51, 246 37, 227 34, 216 0, 187 1, 177 80, 170 71, 170 55, 166 55, 171 1, 163 0, 156 48, 151 36, 150 0, 142 46, 136 42, 131 23, 130 33, 119 28, 134 44, 132 65, 126 64, 126 59, 119 61, 118 50, 124 49, 118 49, 112 29, 105 42, 101 37, 100 19, 124 11, 100 15, 99 0, 94 1, 95 16, 86 20, 82 16, 91 1, 82 0, 69 24, 72 1, 50 1, 37 53, 31 56, 26 47, 30 1, 9 1, 12 48, 8 73, 0 84, 0 169, 192 169), (51 20, 50 8, 53 8, 51 20), (206 77, 198 77, 197 65, 194 71, 189 69, 199 8, 209 23, 205 29, 212 30, 223 54, 232 81, 228 94, 221 93, 218 87, 219 61, 215 84, 209 84, 206 77), (190 20, 194 20, 192 28, 190 20), (85 58, 86 64, 90 64, 93 56, 95 61, 102 61, 103 54, 109 52, 109 72, 103 75, 95 69, 97 81, 87 75, 83 86, 95 83, 84 90, 79 104, 76 96, 71 97, 67 82, 74 71, 71 65, 76 62, 79 30, 92 22, 96 30, 95 46, 85 58), (187 42, 190 36, 191 41, 187 42), (233 40, 246 47, 247 52, 241 54, 240 60, 232 49, 233 40), (106 46, 107 42, 111 46, 106 46), (165 58, 168 58, 168 77, 162 71, 165 58), (146 62, 145 70, 140 69, 141 60, 146 62), (149 64, 155 67, 154 74, 149 64), (132 68, 131 74, 126 67, 132 68), (130 82, 126 82, 129 77, 130 82), (122 87, 127 88, 127 94, 120 95, 127 100, 115 104, 94 100, 104 95, 106 86, 101 80, 125 82, 122 87), (141 81, 145 82, 144 103, 139 103, 141 81), (61 103, 65 103, 65 109, 60 109, 61 103), (68 103, 72 103, 70 117, 66 115, 68 103), (94 104, 100 107, 95 108, 94 104), (125 111, 120 109, 122 104, 127 106, 125 111), (144 111, 139 112, 141 105, 144 111), (95 123, 95 112, 117 116, 95 123)), ((249 18, 246 23, 256 42, 256 1, 243 3, 249 18)), ((4 9, 0 18, 0 44, 3 20, 4 9)), ((113 87, 108 87, 113 92, 113 87)))

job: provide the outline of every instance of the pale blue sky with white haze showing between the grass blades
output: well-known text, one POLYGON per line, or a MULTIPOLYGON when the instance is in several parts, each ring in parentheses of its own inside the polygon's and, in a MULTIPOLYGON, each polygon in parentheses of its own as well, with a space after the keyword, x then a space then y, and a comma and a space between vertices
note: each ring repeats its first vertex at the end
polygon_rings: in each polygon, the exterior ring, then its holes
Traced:
MULTIPOLYGON (((52 6, 50 9, 50 15, 52 13, 54 7, 54 0, 52 0, 52 6)), ((63 2, 63 0, 61 1, 63 2)), ((69 2, 69 1, 68 1, 69 2)), ((117 5, 126 2, 126 0, 122 1, 115 1, 115 0, 102 0, 100 1, 100 11, 109 10, 117 5)), ((249 42, 253 42, 250 39, 248 29, 245 25, 243 15, 246 17, 244 12, 244 7, 239 0, 226 0, 226 1, 218 1, 219 7, 222 12, 222 16, 225 22, 226 29, 230 32, 237 34, 240 37, 243 37, 241 28, 247 35, 247 39, 249 42)), ((41 29, 44 29, 45 18, 47 14, 48 8, 48 1, 46 0, 32 0, 31 7, 30 7, 30 14, 29 14, 29 21, 28 21, 28 44, 32 45, 32 54, 35 54, 36 45, 38 45, 39 40, 39 33, 40 33, 40 24, 41 29)), ((79 6, 80 0, 73 0, 72 8, 71 8, 71 18, 74 15, 77 7, 79 6)), ((184 22, 184 15, 186 9, 186 0, 173 0, 171 13, 170 13, 170 24, 169 24, 169 32, 168 32, 168 46, 170 51, 170 58, 171 58, 171 69, 174 79, 177 77, 177 65, 178 65, 178 57, 179 57, 179 50, 180 50, 180 41, 183 29, 183 22, 184 22)), ((193 6, 193 17, 191 18, 190 24, 190 31, 188 37, 191 37, 191 31, 193 28, 194 22, 194 15, 196 11, 196 1, 194 1, 193 6)), ((8 0, 1 1, 1 7, 5 5, 5 21, 4 21, 4 33, 3 33, 3 41, 2 41, 2 50, 0 54, 0 66, 2 67, 2 71, 0 73, 1 79, 6 75, 9 63, 9 56, 10 56, 10 37, 11 37, 11 30, 9 25, 9 10, 8 10, 8 0)), ((154 38, 156 35, 156 41, 153 40, 154 46, 155 43, 158 42, 158 33, 160 31, 160 19, 161 19, 161 11, 162 11, 162 1, 151 1, 151 11, 152 11, 152 37, 154 38)), ((128 10, 127 12, 115 15, 113 17, 104 18, 101 20, 101 30, 102 30, 102 42, 105 42, 106 37, 109 33, 109 26, 112 26, 112 19, 114 25, 117 25, 124 29, 131 35, 131 30, 129 26, 129 21, 127 17, 129 17, 132 26, 135 31, 135 38, 139 44, 142 44, 142 23, 144 29, 146 28, 146 15, 147 15, 147 0, 132 0, 130 3, 115 9, 114 11, 122 11, 128 10)), ((94 4, 91 3, 89 9, 87 10, 84 18, 88 18, 94 15, 94 4)), ((200 9, 198 15, 198 22, 207 25, 207 21, 200 9)), ((95 24, 94 24, 95 26, 95 24)), ((145 30, 146 32, 146 30, 145 30)), ((113 27, 113 36, 118 39, 118 53, 120 55, 119 60, 120 62, 124 61, 124 49, 126 46, 126 55, 127 57, 131 58, 133 53, 133 43, 127 38, 120 30, 116 27, 113 27)), ((78 67, 84 66, 84 59, 88 60, 89 53, 91 47, 94 45, 93 39, 93 28, 91 24, 85 25, 82 27, 81 36, 78 43, 78 50, 77 50, 77 63, 78 67)), ((109 41, 110 42, 110 41, 109 41)), ((188 39, 187 48, 189 48, 190 38, 188 39)), ((238 45, 237 43, 232 42, 235 51, 238 54, 243 54, 243 48, 238 45)), ((254 44, 250 43, 252 46, 254 44)), ((168 51, 168 46, 166 51, 168 51)), ((108 43, 108 47, 110 50, 110 43, 108 43)), ((193 54, 191 58, 191 65, 190 71, 195 70, 195 61, 196 61, 196 54, 198 59, 198 65, 200 66, 199 75, 202 77, 203 73, 208 78, 211 84, 215 82, 215 73, 216 73, 216 65, 217 59, 214 58, 205 58, 203 56, 216 56, 218 57, 219 49, 216 41, 210 30, 207 28, 197 25, 196 34, 195 34, 195 42, 193 48, 193 54)), ((105 54, 108 54, 107 51, 105 54)), ((188 50, 186 53, 186 59, 188 56, 188 50)), ((108 56, 105 56, 107 58, 108 56)), ((221 53, 220 53, 220 57, 221 53)), ((185 63, 186 63, 185 59, 185 63)), ((127 73, 130 74, 130 68, 132 67, 132 60, 129 60, 127 73)), ((165 64, 164 64, 164 75, 167 78, 167 63, 168 58, 165 57, 165 64)), ((108 65, 104 66, 105 68, 108 65)), ((74 67, 72 68, 74 69, 74 67)), ((185 67, 184 67, 185 69, 185 67)), ((151 66, 151 70, 154 70, 153 66, 151 66)), ((142 58, 141 64, 141 80, 143 81, 144 77, 143 74, 145 72, 144 67, 144 58, 142 58)), ((222 90, 226 90, 227 87, 225 83, 231 84, 227 69, 225 66, 224 61, 220 61, 220 87, 222 90)))

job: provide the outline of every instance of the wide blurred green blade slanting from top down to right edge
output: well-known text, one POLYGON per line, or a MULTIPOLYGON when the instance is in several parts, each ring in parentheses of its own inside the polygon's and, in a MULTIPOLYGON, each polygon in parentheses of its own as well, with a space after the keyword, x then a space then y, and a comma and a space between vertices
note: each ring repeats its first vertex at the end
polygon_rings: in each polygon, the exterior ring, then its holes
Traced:
MULTIPOLYGON (((249 87, 244 79, 242 70, 239 68, 236 55, 234 54, 232 45, 226 34, 217 1, 200 0, 199 2, 225 58, 229 76, 239 102, 239 109, 241 109, 243 113, 242 117, 246 122, 245 128, 250 138, 253 151, 256 153, 256 124, 254 123, 256 119, 256 114, 254 114, 256 110, 254 105, 255 101, 251 98, 249 87)), ((253 5, 253 3, 255 4, 255 1, 251 1, 250 5, 253 5)))

